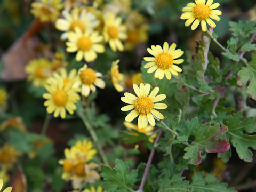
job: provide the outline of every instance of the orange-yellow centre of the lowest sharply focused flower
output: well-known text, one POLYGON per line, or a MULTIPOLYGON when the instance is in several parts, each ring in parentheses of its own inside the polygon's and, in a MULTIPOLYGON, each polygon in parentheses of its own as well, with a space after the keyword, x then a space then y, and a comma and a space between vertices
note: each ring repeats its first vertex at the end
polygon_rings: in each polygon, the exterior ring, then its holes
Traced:
POLYGON ((154 102, 147 96, 141 96, 134 101, 134 106, 139 114, 148 114, 153 109, 154 102))

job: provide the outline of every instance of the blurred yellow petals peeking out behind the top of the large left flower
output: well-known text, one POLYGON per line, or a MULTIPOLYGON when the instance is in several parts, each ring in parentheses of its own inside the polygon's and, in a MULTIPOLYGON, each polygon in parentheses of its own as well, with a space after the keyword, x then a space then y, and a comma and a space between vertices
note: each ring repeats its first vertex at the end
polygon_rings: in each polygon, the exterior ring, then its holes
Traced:
POLYGON ((51 84, 51 81, 63 81, 63 87, 65 87, 68 83, 71 82, 71 88, 76 89, 76 92, 80 92, 81 89, 79 87, 80 83, 79 83, 79 76, 77 75, 77 70, 76 69, 72 69, 69 73, 67 72, 66 68, 61 68, 60 69, 60 73, 57 73, 56 71, 54 71, 52 73, 52 77, 49 77, 47 79, 47 82, 49 82, 49 84, 51 84))

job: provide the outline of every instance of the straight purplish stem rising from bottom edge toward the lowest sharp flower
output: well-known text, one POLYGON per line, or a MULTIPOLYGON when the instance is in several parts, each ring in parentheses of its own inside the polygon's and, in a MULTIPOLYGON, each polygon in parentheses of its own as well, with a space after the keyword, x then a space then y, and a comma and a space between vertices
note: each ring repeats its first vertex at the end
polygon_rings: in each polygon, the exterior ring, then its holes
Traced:
POLYGON ((147 179, 147 175, 148 175, 148 172, 149 172, 149 168, 150 168, 153 156, 155 154, 155 150, 156 150, 156 147, 158 145, 158 141, 159 141, 162 133, 163 133, 163 129, 161 129, 159 131, 159 133, 157 135, 157 138, 156 138, 156 140, 154 142, 154 148, 151 150, 150 155, 148 157, 148 162, 147 162, 147 165, 146 165, 146 169, 145 169, 145 171, 143 173, 143 177, 142 177, 142 180, 141 180, 141 183, 140 183, 140 188, 139 188, 138 192, 142 192, 143 191, 143 188, 145 186, 145 182, 146 182, 146 179, 147 179))

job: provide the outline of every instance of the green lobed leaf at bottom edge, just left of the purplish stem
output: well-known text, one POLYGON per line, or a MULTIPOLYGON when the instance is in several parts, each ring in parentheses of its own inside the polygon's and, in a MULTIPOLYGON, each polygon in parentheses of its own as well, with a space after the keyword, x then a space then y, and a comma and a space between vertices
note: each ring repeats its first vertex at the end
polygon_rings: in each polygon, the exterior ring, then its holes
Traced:
POLYGON ((129 167, 126 162, 116 159, 115 168, 111 169, 109 166, 102 165, 100 174, 104 182, 102 187, 107 190, 107 192, 125 192, 133 191, 131 187, 137 181, 138 171, 129 171, 129 167))

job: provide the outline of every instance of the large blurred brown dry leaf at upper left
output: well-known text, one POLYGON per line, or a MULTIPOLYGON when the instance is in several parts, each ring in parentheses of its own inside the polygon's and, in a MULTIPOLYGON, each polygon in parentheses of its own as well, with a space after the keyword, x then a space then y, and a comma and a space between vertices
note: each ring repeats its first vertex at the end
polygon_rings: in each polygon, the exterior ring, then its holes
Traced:
POLYGON ((26 78, 24 68, 29 60, 36 57, 35 47, 39 45, 39 39, 35 34, 45 24, 35 20, 26 33, 17 39, 2 55, 1 61, 4 68, 1 76, 4 81, 16 81, 26 78))

